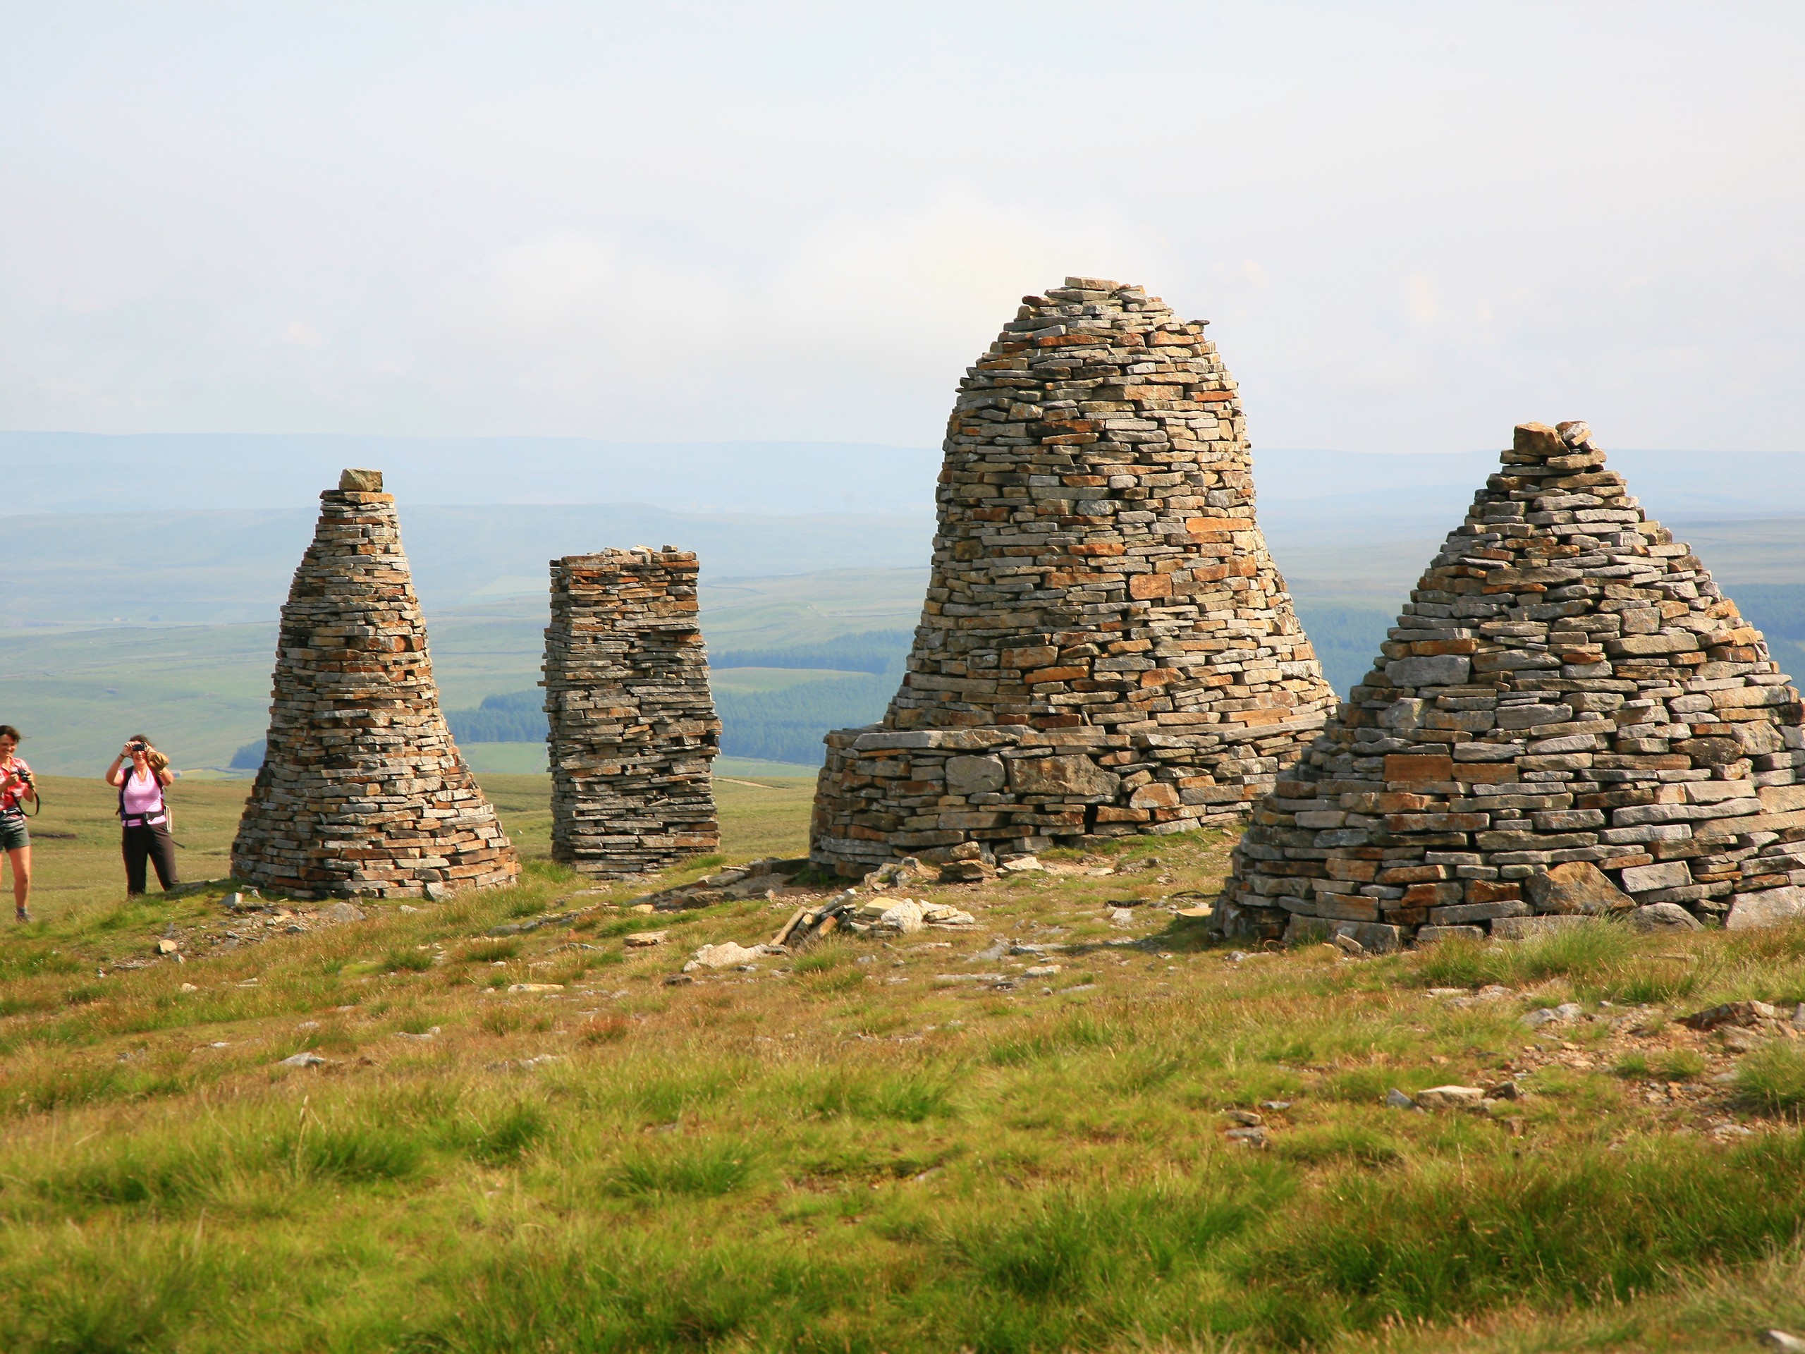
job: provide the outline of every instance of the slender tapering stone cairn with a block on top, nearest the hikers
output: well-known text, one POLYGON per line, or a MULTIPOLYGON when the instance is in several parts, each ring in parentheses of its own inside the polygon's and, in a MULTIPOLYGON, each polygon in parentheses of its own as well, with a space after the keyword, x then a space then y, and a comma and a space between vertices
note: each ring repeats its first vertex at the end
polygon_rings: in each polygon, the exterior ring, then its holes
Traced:
POLYGON ((282 608, 264 769, 233 876, 296 897, 440 895, 520 859, 439 713, 426 623, 377 471, 319 495, 282 608))

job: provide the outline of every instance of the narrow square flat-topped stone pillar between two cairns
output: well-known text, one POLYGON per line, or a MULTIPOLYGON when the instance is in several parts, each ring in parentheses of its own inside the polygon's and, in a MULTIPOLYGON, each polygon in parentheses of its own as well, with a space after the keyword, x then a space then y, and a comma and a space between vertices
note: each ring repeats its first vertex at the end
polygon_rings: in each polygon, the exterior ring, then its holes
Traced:
POLYGON ((695 583, 671 545, 552 560, 552 859, 614 879, 720 849, 695 583))

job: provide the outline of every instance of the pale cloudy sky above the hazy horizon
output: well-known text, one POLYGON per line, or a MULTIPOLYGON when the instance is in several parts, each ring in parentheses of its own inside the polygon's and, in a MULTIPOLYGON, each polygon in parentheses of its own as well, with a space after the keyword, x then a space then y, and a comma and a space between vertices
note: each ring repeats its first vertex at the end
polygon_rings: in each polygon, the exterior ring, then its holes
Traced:
POLYGON ((939 444, 1144 283, 1256 446, 1805 450, 1800 4, 0 0, 0 428, 939 444))

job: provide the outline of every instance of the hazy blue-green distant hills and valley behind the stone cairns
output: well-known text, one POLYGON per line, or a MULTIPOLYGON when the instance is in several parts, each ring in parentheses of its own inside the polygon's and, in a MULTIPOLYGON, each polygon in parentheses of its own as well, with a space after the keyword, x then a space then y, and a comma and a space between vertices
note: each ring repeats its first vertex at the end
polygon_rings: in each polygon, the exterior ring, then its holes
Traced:
MULTIPOLYGON (((1338 691, 1365 675, 1495 460, 1256 453, 1267 543, 1338 691)), ((1708 477, 1699 460, 1612 455, 1805 673, 1805 459, 1722 453, 1708 477)), ((729 753, 812 764, 823 729, 875 719, 895 690, 921 616, 939 453, 0 433, 9 507, 132 505, 0 518, 0 720, 27 729, 27 756, 97 774, 141 726, 188 767, 255 744, 316 495, 354 462, 381 466, 401 498, 446 708, 484 711, 460 737, 542 737, 520 724, 531 709, 486 699, 538 681, 545 561, 605 545, 700 552, 729 753), (648 502, 581 502, 641 489, 648 502), (534 495, 558 502, 509 502, 534 495), (448 502, 458 496, 478 502, 448 502)))

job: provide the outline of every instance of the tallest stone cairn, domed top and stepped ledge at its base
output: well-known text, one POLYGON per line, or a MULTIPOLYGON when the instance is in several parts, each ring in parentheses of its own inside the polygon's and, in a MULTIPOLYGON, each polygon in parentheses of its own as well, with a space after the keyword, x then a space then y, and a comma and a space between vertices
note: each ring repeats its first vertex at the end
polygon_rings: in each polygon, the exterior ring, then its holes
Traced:
POLYGON ((1254 525, 1235 381, 1141 287, 1023 298, 960 381, 937 498, 902 686, 827 737, 816 863, 1227 820, 1334 706, 1254 525))

